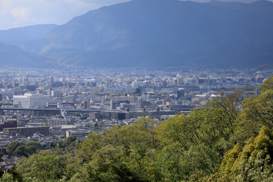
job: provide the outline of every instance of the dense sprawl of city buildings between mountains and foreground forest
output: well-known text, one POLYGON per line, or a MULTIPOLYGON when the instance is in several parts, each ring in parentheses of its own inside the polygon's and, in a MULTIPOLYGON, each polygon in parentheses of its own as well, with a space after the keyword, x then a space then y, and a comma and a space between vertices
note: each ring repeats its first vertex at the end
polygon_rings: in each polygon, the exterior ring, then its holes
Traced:
POLYGON ((236 69, 0 70, 0 140, 5 144, 39 135, 46 145, 52 142, 49 136, 83 139, 141 116, 161 122, 205 104, 219 89, 253 86, 258 95, 258 86, 271 75, 272 70, 236 69))

